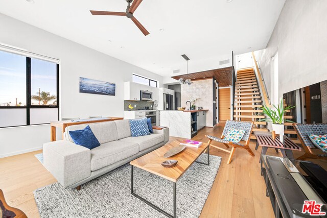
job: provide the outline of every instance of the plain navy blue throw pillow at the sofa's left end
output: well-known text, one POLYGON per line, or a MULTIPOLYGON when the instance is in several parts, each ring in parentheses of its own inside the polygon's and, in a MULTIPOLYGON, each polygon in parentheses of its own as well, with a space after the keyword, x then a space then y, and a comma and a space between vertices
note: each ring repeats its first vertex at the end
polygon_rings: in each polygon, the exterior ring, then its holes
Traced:
POLYGON ((85 148, 94 149, 100 146, 100 142, 93 134, 90 126, 82 130, 69 131, 69 135, 72 137, 75 144, 85 148))

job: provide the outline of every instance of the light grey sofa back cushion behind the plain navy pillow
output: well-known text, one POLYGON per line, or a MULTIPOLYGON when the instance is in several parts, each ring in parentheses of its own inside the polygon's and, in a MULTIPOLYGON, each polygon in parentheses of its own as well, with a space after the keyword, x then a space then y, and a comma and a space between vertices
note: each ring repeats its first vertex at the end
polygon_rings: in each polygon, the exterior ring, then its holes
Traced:
MULTIPOLYGON (((116 129, 116 124, 112 121, 109 122, 101 122, 101 123, 94 123, 94 124, 81 124, 81 125, 73 125, 66 127, 66 132, 81 130, 86 126, 90 126, 92 132, 97 137, 100 144, 118 140, 118 133, 116 129)), ((66 138, 69 141, 74 142, 72 137, 69 134, 66 134, 66 138), (68 136, 68 137, 67 137, 68 136)))

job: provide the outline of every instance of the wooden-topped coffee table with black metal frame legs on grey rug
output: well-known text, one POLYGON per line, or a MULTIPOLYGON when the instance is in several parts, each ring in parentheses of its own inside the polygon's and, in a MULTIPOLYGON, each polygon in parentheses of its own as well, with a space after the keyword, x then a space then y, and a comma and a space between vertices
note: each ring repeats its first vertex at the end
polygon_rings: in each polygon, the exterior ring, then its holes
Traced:
POLYGON ((202 143, 199 148, 192 148, 192 147, 187 147, 180 153, 169 157, 165 158, 164 154, 171 148, 179 146, 179 142, 181 140, 175 140, 171 143, 166 144, 165 146, 162 146, 161 148, 158 148, 142 157, 139 157, 133 161, 130 162, 131 164, 131 194, 135 196, 136 198, 144 201, 154 209, 158 210, 161 213, 164 213, 165 215, 169 217, 176 217, 176 182, 178 179, 186 172, 188 168, 194 163, 202 163, 209 165, 209 144, 208 143, 202 143), (196 159, 205 151, 207 150, 207 163, 203 162, 198 162, 196 159), (177 160, 177 165, 171 168, 167 168, 161 165, 162 162, 165 160, 169 159, 174 159, 177 160), (134 192, 134 173, 133 173, 133 168, 138 167, 141 168, 145 171, 148 171, 152 174, 155 174, 157 176, 160 176, 162 178, 168 179, 173 182, 173 190, 174 190, 174 214, 171 215, 168 212, 162 210, 161 208, 155 206, 151 202, 145 200, 141 196, 138 196, 134 192))

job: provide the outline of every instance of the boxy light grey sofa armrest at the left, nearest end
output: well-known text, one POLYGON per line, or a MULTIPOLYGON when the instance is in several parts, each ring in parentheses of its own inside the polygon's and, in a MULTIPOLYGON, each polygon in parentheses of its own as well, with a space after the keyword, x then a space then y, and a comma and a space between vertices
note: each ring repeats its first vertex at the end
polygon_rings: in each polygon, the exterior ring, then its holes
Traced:
POLYGON ((43 164, 68 187, 91 175, 91 150, 66 140, 44 143, 43 164))

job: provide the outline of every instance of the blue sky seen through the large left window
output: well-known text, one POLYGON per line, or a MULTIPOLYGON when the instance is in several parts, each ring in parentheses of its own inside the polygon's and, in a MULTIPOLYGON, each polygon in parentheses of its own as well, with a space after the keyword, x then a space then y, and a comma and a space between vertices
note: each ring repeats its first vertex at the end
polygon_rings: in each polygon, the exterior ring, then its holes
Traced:
MULTIPOLYGON (((32 95, 37 95, 39 88, 56 95, 56 68, 55 63, 32 58, 32 95)), ((17 103, 26 105, 26 57, 0 51, 0 105, 11 102, 15 106, 16 98, 17 103)), ((32 104, 38 105, 38 101, 32 100, 32 104)))

